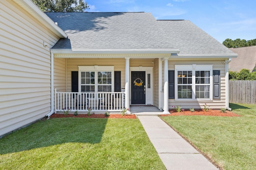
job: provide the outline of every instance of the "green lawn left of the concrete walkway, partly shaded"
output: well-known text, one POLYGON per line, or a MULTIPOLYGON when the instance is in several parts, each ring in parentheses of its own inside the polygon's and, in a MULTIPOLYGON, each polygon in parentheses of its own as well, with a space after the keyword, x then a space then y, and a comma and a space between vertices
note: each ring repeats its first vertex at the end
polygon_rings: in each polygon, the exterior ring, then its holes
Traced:
POLYGON ((0 139, 0 169, 165 169, 138 119, 59 118, 0 139))

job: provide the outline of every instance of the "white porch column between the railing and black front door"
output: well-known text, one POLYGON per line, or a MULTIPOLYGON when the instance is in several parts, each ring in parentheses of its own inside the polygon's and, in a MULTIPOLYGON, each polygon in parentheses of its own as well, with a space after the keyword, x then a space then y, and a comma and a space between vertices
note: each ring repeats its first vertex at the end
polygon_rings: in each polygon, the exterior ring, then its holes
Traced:
POLYGON ((130 113, 130 58, 125 58, 125 107, 130 113))

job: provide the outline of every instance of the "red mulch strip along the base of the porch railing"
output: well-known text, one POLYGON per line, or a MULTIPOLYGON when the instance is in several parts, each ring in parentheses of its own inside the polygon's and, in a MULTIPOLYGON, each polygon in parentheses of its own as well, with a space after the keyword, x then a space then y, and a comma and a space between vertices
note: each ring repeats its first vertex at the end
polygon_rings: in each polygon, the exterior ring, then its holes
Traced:
POLYGON ((91 114, 88 116, 87 114, 79 114, 79 115, 74 115, 74 114, 52 114, 50 118, 62 118, 62 117, 89 117, 89 118, 114 118, 114 119, 136 119, 136 115, 132 114, 127 114, 127 115, 121 115, 121 114, 109 114, 109 116, 105 116, 104 114, 91 114))

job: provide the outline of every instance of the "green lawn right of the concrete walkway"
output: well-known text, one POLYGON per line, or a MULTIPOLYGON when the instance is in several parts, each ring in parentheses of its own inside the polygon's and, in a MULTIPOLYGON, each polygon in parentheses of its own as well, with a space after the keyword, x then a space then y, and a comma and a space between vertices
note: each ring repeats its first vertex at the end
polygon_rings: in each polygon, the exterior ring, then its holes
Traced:
POLYGON ((162 117, 225 170, 256 169, 256 105, 230 104, 241 117, 162 117))

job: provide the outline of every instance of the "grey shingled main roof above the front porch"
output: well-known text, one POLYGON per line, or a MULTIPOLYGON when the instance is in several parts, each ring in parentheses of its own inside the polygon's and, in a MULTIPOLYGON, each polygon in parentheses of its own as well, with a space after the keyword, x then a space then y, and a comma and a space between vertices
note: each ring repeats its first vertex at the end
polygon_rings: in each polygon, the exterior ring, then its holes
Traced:
POLYGON ((179 55, 236 54, 188 20, 144 12, 47 12, 68 35, 52 49, 179 49, 179 55))

